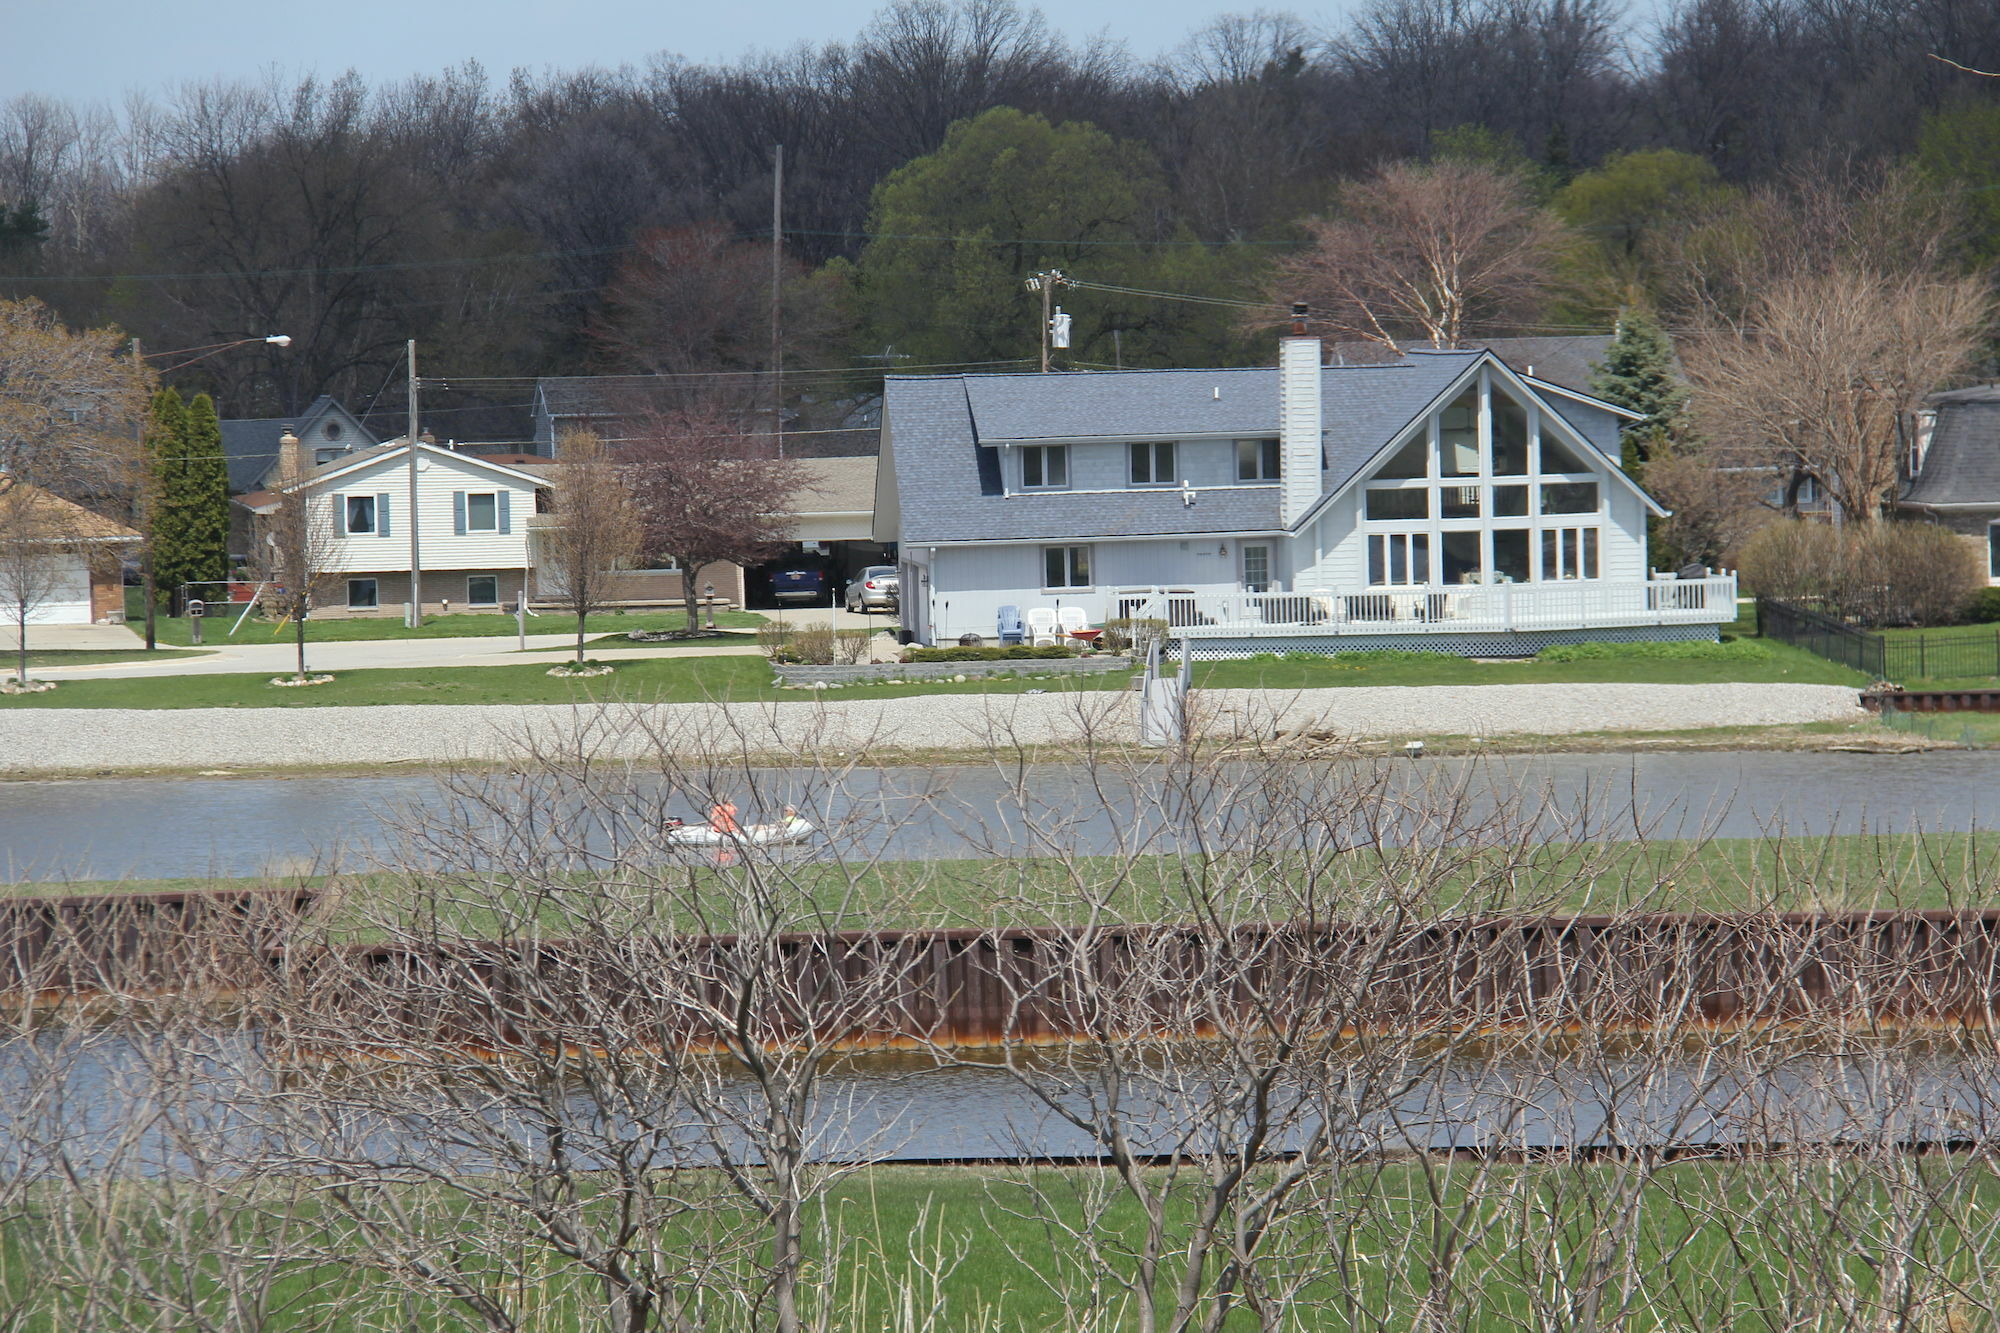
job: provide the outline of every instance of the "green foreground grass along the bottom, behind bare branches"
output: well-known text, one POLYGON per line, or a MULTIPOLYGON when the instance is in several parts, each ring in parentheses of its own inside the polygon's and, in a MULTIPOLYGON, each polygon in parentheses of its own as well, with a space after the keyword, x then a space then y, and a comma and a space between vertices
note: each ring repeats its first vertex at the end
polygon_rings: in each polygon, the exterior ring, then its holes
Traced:
MULTIPOLYGON (((2000 1203, 2000 1187, 1964 1161, 1912 1165, 1908 1175, 1916 1179, 1842 1161, 1686 1161, 1636 1173, 1560 1161, 1358 1159, 1312 1177, 1286 1201, 1276 1233, 1258 1237, 1258 1271, 1284 1275, 1288 1287, 1282 1323, 1262 1327, 1568 1329, 1578 1327, 1574 1305, 1600 1291, 1598 1283, 1604 1303, 1622 1311, 1604 1327, 1988 1327, 1976 1315, 1994 1295, 1996 1243, 1982 1219, 2000 1203), (1922 1235, 1904 1239, 1908 1225, 1922 1235), (1890 1257, 1900 1267, 1886 1279, 1890 1257), (1940 1313, 1892 1319, 1912 1303, 1940 1313), (1854 1321, 1836 1315, 1844 1309, 1854 1321)), ((1174 1243, 1196 1219, 1198 1183, 1190 1177, 1168 1185, 1160 1171, 1140 1171, 1132 1181, 1160 1199, 1168 1263, 1154 1289, 1162 1301, 1172 1301, 1178 1277, 1174 1243)), ((1260 1169, 1250 1185, 1270 1179, 1260 1169)), ((688 1301, 698 1323, 632 1327, 776 1327, 768 1315, 742 1311, 760 1287, 760 1221, 710 1173, 662 1171, 662 1189, 674 1193, 648 1201, 656 1221, 644 1227, 632 1265, 688 1301)), ((540 1237, 540 1225, 524 1217, 528 1199, 526 1179, 498 1175, 346 1187, 340 1203, 354 1215, 304 1181, 126 1183, 88 1195, 50 1185, 0 1223, 0 1303, 20 1319, 10 1327, 24 1333, 248 1327, 230 1317, 246 1297, 258 1313, 254 1327, 270 1333, 610 1327, 606 1285, 540 1237), (70 1207, 60 1207, 66 1201, 70 1207), (370 1237, 400 1243, 386 1249, 370 1237), (116 1267, 94 1269, 94 1253, 116 1255, 116 1267), (422 1263, 408 1255, 422 1255, 422 1263), (446 1273, 452 1295, 440 1281, 446 1273), (78 1317, 86 1295, 116 1301, 128 1287, 136 1289, 130 1323, 112 1321, 116 1303, 90 1311, 96 1323, 78 1317), (154 1293, 170 1293, 172 1305, 154 1293), (466 1309, 474 1301, 498 1317, 476 1319, 466 1309), (214 1315, 184 1323, 140 1315, 176 1307, 214 1315)), ((616 1235, 616 1203, 606 1195, 586 1189, 560 1209, 566 1237, 616 1235)), ((1140 1327, 1128 1287, 1146 1215, 1102 1171, 868 1167, 814 1199, 802 1233, 808 1319, 826 1321, 808 1327, 1140 1327), (1074 1245, 1078 1233, 1092 1239, 1098 1257, 1074 1245)), ((1220 1327, 1248 1333, 1260 1323, 1238 1303, 1220 1327)))

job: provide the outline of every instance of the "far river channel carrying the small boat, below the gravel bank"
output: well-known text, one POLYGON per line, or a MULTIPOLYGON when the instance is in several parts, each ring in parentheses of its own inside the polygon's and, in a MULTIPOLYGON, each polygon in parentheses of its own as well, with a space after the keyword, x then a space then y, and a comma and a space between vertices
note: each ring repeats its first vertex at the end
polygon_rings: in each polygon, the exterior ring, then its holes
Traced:
MULTIPOLYGON (((1316 773, 1318 781, 1342 781, 1340 771, 1316 773)), ((2000 827, 2000 753, 1992 751, 1396 759, 1386 775, 1384 791, 1406 799, 1412 789, 1434 799, 1456 793, 1474 817, 1518 807, 1550 837, 1590 841, 2000 827)), ((516 779, 478 783, 510 809, 516 789, 508 783, 516 779)), ((1160 771, 1050 765, 1024 775, 994 767, 856 769, 840 783, 776 769, 722 775, 712 793, 736 801, 744 819, 792 803, 838 829, 844 849, 924 859, 1034 853, 1054 823, 1076 851, 1130 847, 1134 831, 1150 827, 1160 839, 1154 849, 1164 851, 1180 837, 1170 803, 1160 801, 1164 787, 1160 771)), ((522 795, 520 807, 546 797, 546 787, 522 795)), ((706 799, 662 795, 658 783, 638 779, 626 807, 642 817, 700 819, 706 799)), ((480 817, 466 809, 462 795, 424 775, 0 783, 0 883, 356 869, 388 853, 396 829, 412 819, 480 817)))

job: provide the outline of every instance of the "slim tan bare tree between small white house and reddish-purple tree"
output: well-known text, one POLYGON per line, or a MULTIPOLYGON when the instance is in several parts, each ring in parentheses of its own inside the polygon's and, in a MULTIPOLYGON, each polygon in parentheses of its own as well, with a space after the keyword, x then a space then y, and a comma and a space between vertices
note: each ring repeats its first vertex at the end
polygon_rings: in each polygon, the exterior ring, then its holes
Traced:
POLYGON ((554 514, 538 528, 536 550, 556 600, 576 616, 576 664, 582 666, 590 612, 604 608, 612 570, 638 554, 640 526, 632 492, 602 438, 566 430, 556 456, 548 472, 554 514))

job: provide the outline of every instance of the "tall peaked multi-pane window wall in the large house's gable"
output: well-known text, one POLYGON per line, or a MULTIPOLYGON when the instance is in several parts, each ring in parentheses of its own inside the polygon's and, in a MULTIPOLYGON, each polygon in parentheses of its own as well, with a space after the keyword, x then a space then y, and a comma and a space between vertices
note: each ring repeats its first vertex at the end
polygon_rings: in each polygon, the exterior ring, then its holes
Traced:
POLYGON ((1598 576, 1602 468, 1490 370, 1362 482, 1372 584, 1598 576))

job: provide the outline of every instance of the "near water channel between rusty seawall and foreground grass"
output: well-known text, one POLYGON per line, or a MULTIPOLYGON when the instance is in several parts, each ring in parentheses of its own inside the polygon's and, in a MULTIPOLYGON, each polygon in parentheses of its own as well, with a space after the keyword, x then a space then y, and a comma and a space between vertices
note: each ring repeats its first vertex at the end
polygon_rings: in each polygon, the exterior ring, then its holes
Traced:
MULTIPOLYGON (((468 1079, 454 1097, 442 1079, 344 1075, 302 1079, 272 1059, 260 1033, 130 1037, 102 1029, 48 1029, 0 1045, 0 1171, 38 1171, 38 1157, 82 1169, 186 1171, 266 1151, 274 1139, 342 1139, 350 1153, 434 1169, 488 1169, 564 1127, 572 1153, 684 1133, 686 1161, 722 1147, 754 1157, 742 1125, 756 1123, 748 1081, 712 1085, 698 1101, 630 1081, 614 1097, 572 1093, 550 1105, 524 1083, 518 1107, 504 1081, 468 1079), (718 1107, 724 1111, 718 1113, 718 1107), (532 1113, 530 1113, 532 1111, 532 1113), (710 1137, 708 1131, 714 1131, 710 1137), (52 1155, 50 1155, 52 1153, 52 1155)), ((916 1055, 844 1061, 830 1069, 812 1111, 812 1155, 822 1161, 1092 1159, 1102 1145, 1068 1115, 1092 1123, 1112 1099, 1088 1053, 1034 1067, 1026 1079, 998 1063, 938 1065, 916 1055)), ((1158 1059, 1158 1053, 1154 1053, 1158 1059)), ((1318 1095, 1280 1081, 1268 1105, 1274 1151, 1284 1151, 1332 1107, 1352 1151, 1550 1147, 1730 1147, 1764 1143, 1938 1143, 2000 1133, 2000 1067, 1964 1043, 1904 1047, 1850 1043, 1796 1049, 1782 1039, 1718 1043, 1650 1055, 1604 1047, 1404 1051, 1336 1055, 1318 1095)), ((1180 1069, 1126 1067, 1118 1123, 1138 1151, 1190 1151, 1228 1133, 1190 1059, 1180 1069)), ((588 1165, 588 1163, 586 1163, 588 1165)))

